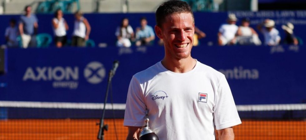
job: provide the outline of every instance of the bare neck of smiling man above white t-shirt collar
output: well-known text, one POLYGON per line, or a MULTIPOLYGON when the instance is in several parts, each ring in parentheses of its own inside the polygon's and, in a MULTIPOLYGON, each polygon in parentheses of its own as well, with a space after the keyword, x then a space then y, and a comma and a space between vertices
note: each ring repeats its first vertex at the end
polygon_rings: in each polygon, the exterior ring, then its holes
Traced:
POLYGON ((191 56, 176 60, 164 58, 161 63, 166 69, 172 72, 185 73, 191 71, 195 67, 196 60, 191 56))

